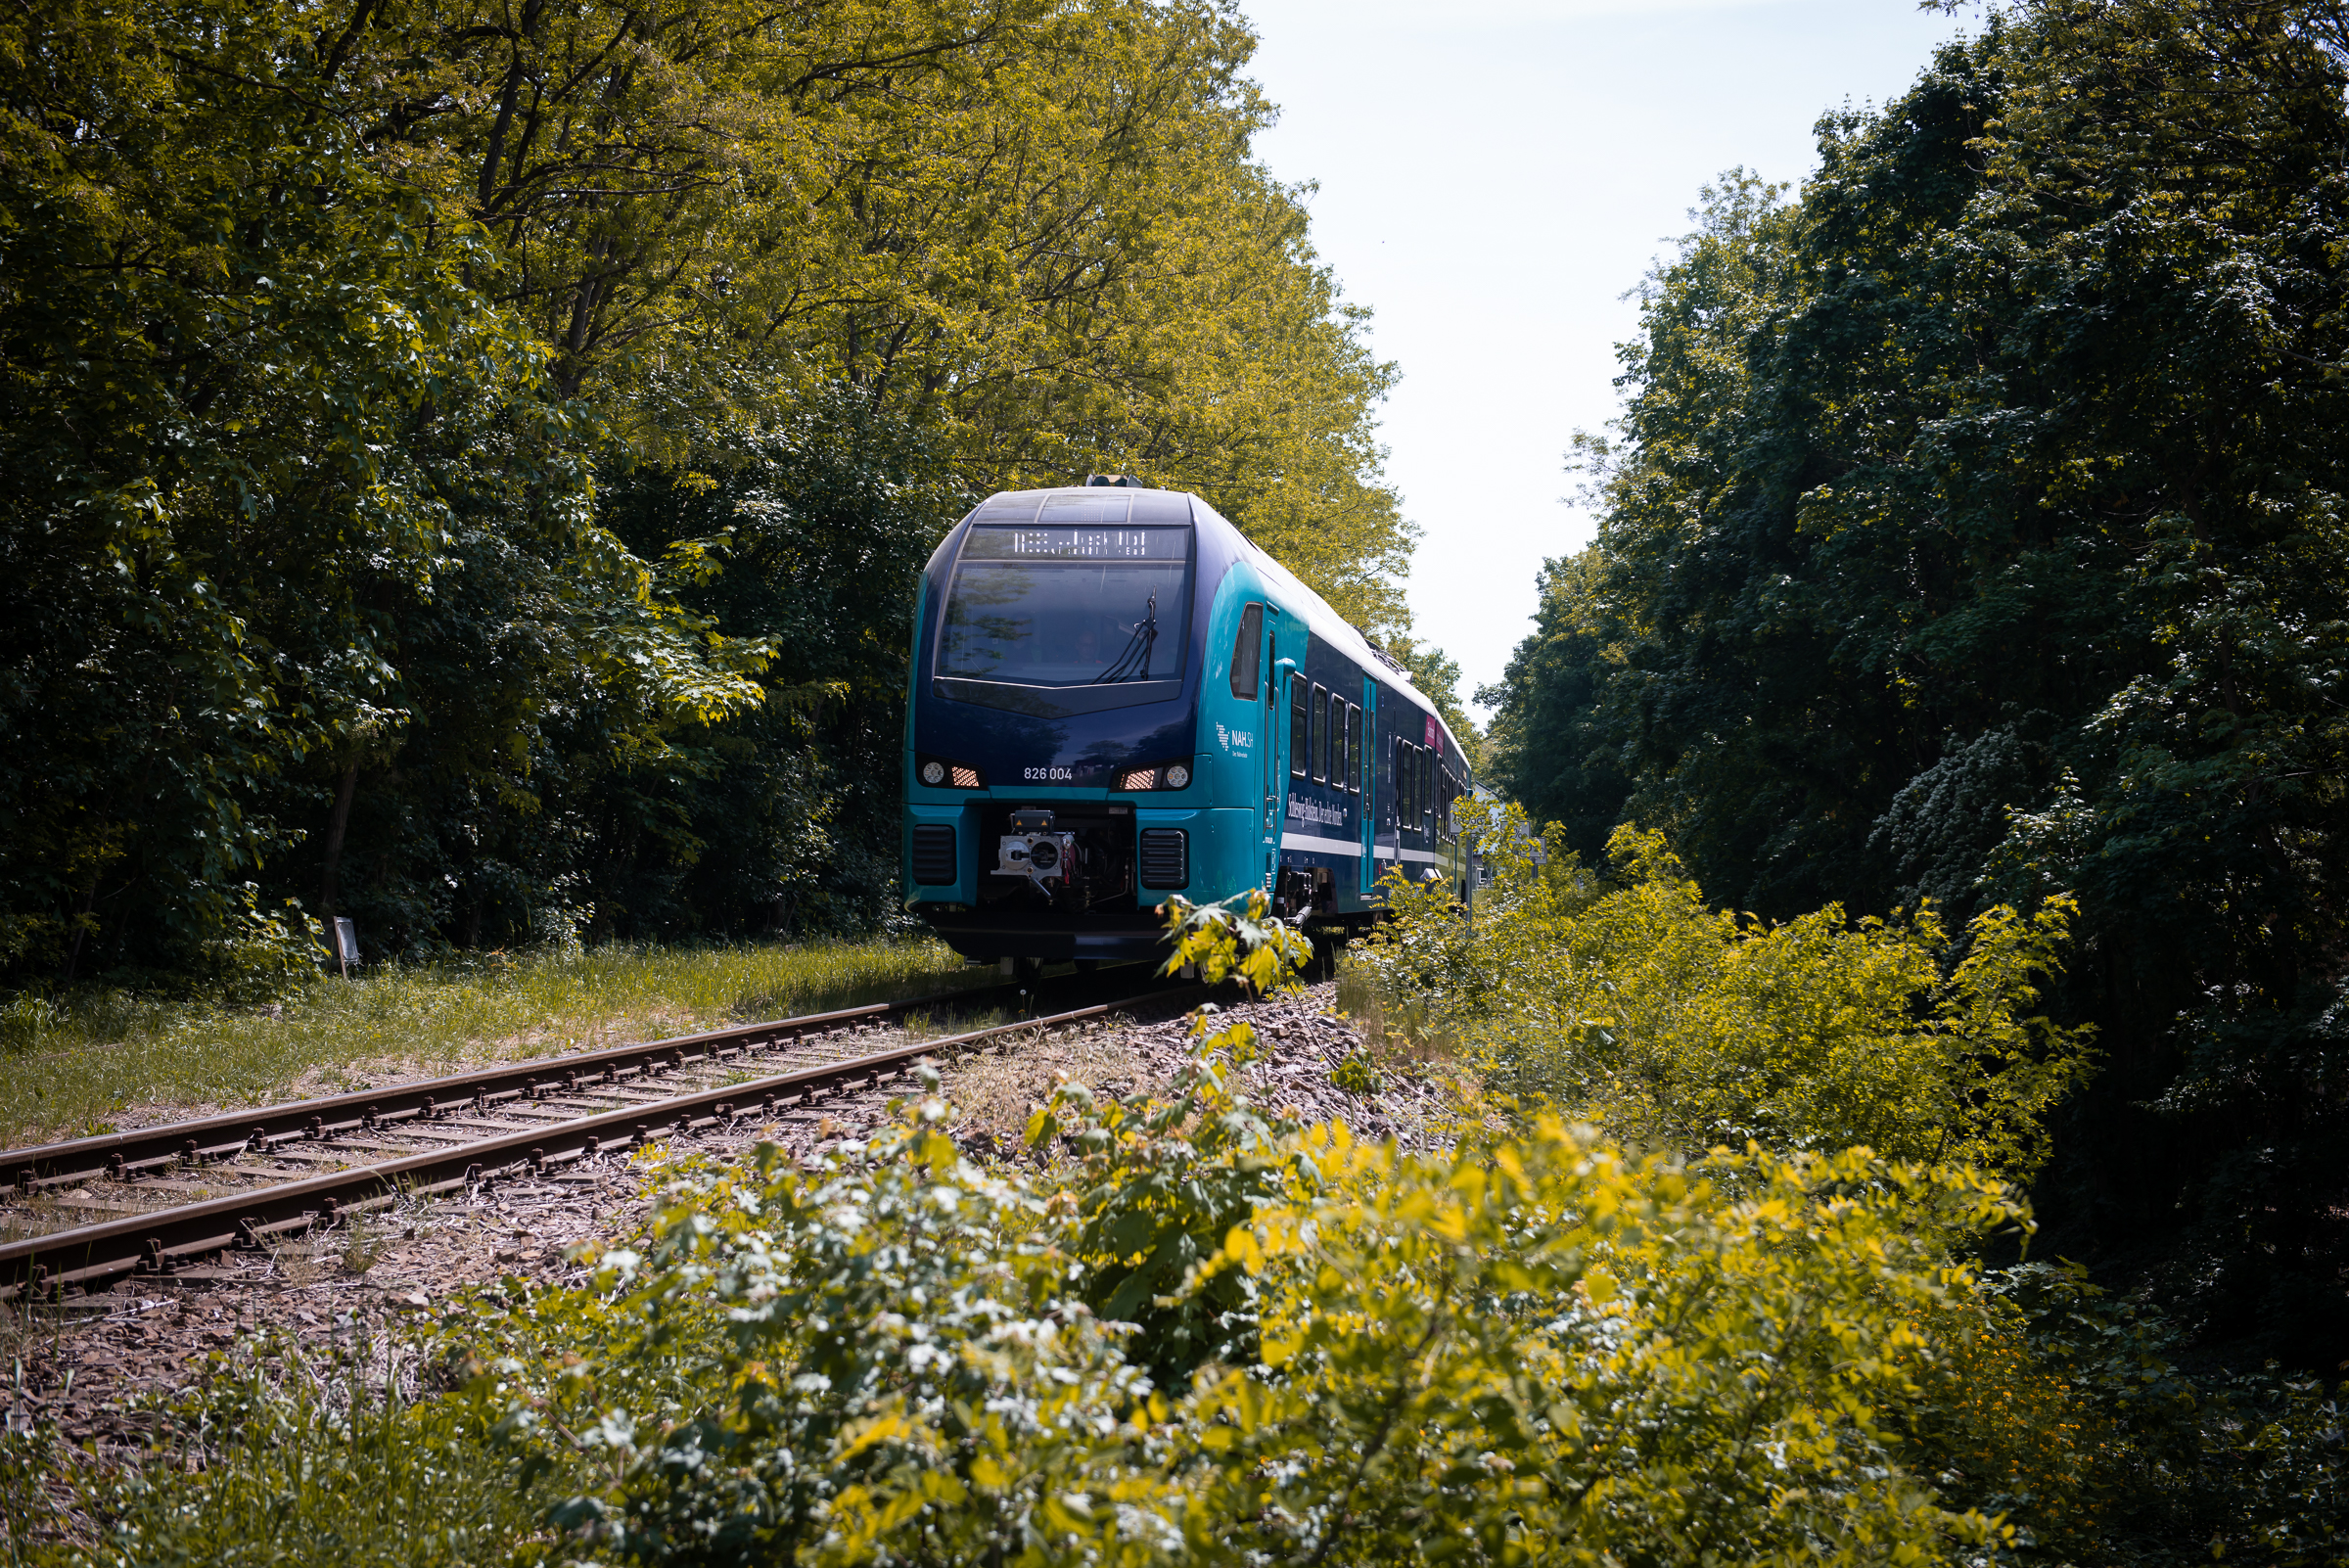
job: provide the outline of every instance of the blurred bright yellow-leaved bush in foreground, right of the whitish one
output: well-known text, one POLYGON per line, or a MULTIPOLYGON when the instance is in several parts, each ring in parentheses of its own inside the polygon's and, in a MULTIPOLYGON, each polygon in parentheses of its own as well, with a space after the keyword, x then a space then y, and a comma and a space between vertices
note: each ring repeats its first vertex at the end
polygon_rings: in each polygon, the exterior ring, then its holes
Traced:
POLYGON ((1865 1155, 1628 1160, 1555 1117, 1299 1145, 1257 1216, 1264 1371, 1193 1394, 1233 1519, 1341 1561, 1905 1561, 1994 1535, 1889 1462, 1994 1183, 1865 1155), (1919 1223, 1921 1221, 1921 1223, 1919 1223), (1276 1526, 1278 1530, 1278 1526, 1276 1526))

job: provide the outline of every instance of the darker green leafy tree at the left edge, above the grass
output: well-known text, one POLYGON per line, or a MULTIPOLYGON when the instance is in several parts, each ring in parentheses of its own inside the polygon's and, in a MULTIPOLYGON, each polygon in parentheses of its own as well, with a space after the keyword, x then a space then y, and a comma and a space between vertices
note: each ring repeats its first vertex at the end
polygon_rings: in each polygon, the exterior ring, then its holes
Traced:
POLYGON ((0 23, 5 955, 68 979, 235 946, 310 775, 413 718, 406 620, 451 577, 529 577, 503 634, 634 737, 740 709, 756 662, 597 526, 580 411, 467 284, 479 235, 432 244, 430 202, 317 113, 334 38, 181 21, 0 23))

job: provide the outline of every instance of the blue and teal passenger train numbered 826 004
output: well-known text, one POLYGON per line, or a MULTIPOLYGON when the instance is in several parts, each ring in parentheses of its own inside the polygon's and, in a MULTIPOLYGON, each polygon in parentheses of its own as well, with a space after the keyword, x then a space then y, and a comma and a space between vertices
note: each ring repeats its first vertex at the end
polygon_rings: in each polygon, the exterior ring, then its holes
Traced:
POLYGON ((1341 937, 1395 866, 1466 899, 1468 789, 1402 667, 1198 495, 1005 491, 923 573, 904 880, 965 958, 1149 958, 1167 897, 1250 887, 1341 937))

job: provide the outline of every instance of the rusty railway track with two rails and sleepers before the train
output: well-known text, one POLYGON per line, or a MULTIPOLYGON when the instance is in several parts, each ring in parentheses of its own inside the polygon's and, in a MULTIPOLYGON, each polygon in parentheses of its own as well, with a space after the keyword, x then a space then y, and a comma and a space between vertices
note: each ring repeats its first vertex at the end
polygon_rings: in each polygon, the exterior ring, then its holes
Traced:
MULTIPOLYGON (((1062 1000, 1099 988, 1066 981, 1062 1000)), ((0 1174, 14 1185, 0 1223, 19 1239, 0 1242, 0 1300, 61 1300, 139 1275, 197 1282, 204 1258, 352 1214, 759 1124, 933 1056, 1200 995, 1200 986, 1142 988, 928 1040, 907 1038, 904 1026, 937 1007, 987 1005, 994 991, 874 1002, 7 1150, 0 1174)))

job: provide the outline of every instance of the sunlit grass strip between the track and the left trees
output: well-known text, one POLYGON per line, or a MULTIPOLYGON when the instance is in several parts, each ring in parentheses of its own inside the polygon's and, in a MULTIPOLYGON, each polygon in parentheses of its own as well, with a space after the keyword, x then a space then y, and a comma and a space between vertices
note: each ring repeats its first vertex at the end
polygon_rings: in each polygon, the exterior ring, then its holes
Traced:
POLYGON ((982 984, 937 941, 599 946, 322 976, 265 1007, 82 988, 0 1033, 0 1145, 110 1131, 136 1108, 334 1094, 383 1075, 552 1056, 982 984))

